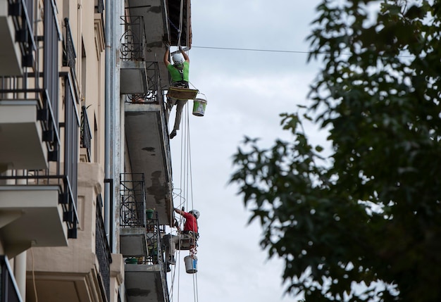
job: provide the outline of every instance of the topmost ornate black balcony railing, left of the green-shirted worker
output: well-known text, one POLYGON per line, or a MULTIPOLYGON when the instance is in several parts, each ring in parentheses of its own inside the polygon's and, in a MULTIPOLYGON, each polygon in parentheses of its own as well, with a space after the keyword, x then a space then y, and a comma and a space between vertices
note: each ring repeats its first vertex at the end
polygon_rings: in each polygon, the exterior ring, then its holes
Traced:
POLYGON ((144 52, 147 49, 144 19, 139 15, 124 15, 120 18, 124 25, 124 34, 121 37, 120 58, 130 61, 144 61, 144 52))

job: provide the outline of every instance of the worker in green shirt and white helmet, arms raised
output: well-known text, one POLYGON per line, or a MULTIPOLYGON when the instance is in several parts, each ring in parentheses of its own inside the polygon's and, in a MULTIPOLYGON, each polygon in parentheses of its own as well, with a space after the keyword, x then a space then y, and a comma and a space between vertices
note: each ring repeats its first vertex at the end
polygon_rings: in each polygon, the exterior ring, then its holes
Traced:
MULTIPOLYGON (((182 47, 179 46, 179 53, 173 54, 173 64, 168 61, 170 55, 170 45, 166 44, 166 54, 164 54, 164 64, 166 64, 167 70, 171 76, 171 86, 188 88, 188 73, 190 69, 190 58, 188 58, 182 47)), ((182 108, 184 108, 187 100, 178 100, 173 98, 167 99, 167 106, 171 111, 171 108, 176 105, 176 117, 175 125, 173 126, 173 131, 170 132, 170 139, 176 136, 176 131, 179 130, 182 108)))

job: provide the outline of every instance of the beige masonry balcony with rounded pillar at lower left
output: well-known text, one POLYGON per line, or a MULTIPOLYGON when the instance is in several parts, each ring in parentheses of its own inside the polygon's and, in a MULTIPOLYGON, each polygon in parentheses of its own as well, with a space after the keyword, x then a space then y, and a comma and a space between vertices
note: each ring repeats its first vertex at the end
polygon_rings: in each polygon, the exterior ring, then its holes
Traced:
POLYGON ((123 258, 118 263, 106 238, 99 193, 104 187, 104 171, 97 163, 80 163, 78 170, 78 209, 82 215, 77 239, 70 239, 68 246, 32 248, 32 253, 27 253, 26 291, 32 293, 27 295, 28 302, 36 301, 35 291, 38 301, 45 302, 111 301, 118 286, 111 278, 122 273, 118 267, 123 268, 123 258))

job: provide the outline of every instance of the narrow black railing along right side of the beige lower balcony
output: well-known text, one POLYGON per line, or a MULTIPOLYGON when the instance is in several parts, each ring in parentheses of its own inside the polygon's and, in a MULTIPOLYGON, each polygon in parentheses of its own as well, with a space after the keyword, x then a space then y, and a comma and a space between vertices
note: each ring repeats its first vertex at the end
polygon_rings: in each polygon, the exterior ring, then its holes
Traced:
POLYGON ((99 272, 101 280, 106 291, 107 301, 110 301, 110 265, 112 263, 111 251, 108 246, 106 229, 104 227, 104 220, 101 215, 103 202, 101 194, 97 196, 97 220, 96 220, 96 237, 95 237, 95 253, 99 263, 99 272))

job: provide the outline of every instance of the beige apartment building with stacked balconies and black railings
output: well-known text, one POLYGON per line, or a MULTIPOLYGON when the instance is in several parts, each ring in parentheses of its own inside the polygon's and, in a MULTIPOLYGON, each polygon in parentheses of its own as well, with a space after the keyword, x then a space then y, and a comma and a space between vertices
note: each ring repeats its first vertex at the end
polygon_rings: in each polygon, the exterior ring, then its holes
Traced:
POLYGON ((169 301, 165 47, 190 0, 0 0, 0 301, 169 301))

